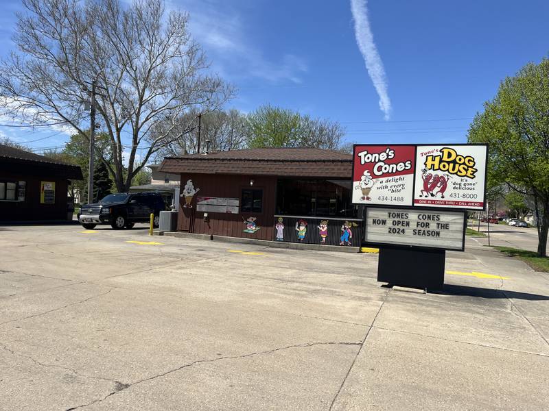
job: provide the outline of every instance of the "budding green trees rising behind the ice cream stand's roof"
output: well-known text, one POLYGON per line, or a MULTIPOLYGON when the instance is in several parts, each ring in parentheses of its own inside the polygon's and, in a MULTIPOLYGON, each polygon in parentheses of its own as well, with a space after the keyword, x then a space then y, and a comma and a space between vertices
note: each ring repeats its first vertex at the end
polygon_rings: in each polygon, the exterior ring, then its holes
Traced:
POLYGON ((248 147, 318 147, 336 150, 344 128, 335 121, 263 105, 246 116, 248 147))

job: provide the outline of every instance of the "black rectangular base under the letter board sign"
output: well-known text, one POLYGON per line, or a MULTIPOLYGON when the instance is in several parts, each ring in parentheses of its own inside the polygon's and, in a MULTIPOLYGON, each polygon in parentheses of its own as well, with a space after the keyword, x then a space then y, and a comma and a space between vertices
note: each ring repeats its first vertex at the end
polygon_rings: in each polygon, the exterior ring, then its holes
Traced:
POLYGON ((442 290, 445 257, 445 250, 380 247, 377 281, 423 290, 442 290))

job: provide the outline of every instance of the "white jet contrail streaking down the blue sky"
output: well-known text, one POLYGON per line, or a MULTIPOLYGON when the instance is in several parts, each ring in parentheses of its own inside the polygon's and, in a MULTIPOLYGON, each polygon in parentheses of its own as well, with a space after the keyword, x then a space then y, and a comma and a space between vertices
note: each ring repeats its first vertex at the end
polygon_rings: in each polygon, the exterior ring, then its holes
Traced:
POLYGON ((355 20, 355 38, 364 57, 366 69, 372 79, 373 86, 379 95, 379 108, 385 113, 385 119, 390 116, 390 99, 387 92, 387 77, 383 68, 382 59, 377 53, 377 47, 373 42, 373 34, 368 21, 367 0, 351 0, 351 12, 355 20))

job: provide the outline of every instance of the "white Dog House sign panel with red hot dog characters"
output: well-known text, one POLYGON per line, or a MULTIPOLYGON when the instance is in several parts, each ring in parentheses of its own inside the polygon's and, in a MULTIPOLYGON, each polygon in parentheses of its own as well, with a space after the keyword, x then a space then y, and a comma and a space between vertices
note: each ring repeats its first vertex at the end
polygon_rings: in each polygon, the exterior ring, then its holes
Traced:
POLYGON ((486 145, 417 147, 414 206, 484 210, 486 145))

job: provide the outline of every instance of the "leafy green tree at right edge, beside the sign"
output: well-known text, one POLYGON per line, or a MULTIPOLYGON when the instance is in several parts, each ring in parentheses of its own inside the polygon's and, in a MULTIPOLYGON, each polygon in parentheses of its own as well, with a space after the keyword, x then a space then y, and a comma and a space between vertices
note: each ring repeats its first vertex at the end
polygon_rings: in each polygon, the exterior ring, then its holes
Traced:
POLYGON ((538 256, 549 230, 549 60, 526 64, 500 84, 469 128, 469 142, 489 143, 489 181, 533 199, 538 256))

